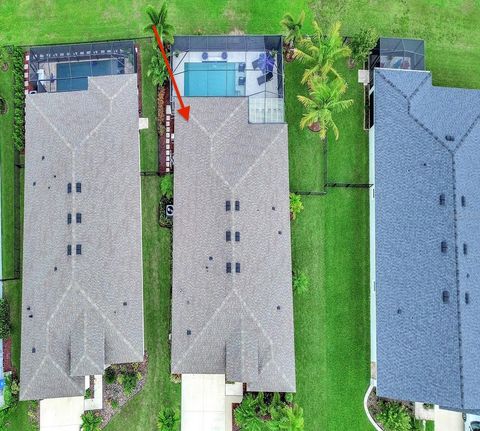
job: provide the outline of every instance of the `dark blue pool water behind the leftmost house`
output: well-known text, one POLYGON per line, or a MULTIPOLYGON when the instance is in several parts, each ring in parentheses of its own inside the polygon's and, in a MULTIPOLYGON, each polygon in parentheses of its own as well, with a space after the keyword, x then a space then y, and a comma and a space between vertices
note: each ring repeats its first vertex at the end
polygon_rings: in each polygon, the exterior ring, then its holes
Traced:
POLYGON ((117 60, 58 63, 56 76, 57 91, 87 90, 88 76, 118 75, 124 72, 123 62, 117 60))

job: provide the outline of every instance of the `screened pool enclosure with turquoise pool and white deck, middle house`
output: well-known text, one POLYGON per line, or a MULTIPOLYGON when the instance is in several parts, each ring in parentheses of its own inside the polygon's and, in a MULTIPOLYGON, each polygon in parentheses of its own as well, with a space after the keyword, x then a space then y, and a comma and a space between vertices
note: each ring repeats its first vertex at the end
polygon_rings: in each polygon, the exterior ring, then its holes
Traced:
POLYGON ((284 122, 281 36, 176 36, 170 62, 182 96, 248 97, 250 122, 284 122))

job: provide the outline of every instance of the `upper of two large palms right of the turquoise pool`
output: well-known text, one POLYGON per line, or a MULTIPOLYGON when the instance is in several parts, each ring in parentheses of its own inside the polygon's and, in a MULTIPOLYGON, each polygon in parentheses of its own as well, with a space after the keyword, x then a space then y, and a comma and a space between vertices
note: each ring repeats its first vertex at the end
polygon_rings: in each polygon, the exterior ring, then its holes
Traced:
POLYGON ((324 33, 316 21, 313 22, 313 27, 313 35, 302 39, 299 47, 294 49, 295 58, 308 66, 303 73, 302 84, 314 75, 327 79, 330 72, 340 77, 334 64, 341 58, 349 57, 351 53, 350 48, 343 43, 339 22, 333 24, 328 33, 324 33))

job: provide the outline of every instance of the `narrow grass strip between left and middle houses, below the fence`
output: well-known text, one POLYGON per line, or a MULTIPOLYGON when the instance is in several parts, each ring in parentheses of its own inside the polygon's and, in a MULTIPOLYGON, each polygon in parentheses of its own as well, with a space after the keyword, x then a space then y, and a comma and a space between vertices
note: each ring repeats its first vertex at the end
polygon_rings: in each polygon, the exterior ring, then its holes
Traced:
POLYGON ((162 406, 179 406, 180 385, 170 382, 171 232, 157 222, 158 177, 142 178, 145 347, 149 366, 143 390, 114 417, 108 431, 154 430, 162 406))

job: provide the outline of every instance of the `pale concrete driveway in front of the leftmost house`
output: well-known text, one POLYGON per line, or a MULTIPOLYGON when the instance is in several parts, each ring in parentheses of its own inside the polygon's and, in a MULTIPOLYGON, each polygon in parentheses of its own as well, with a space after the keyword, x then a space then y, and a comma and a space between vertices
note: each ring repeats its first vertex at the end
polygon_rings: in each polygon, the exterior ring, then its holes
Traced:
POLYGON ((84 397, 40 401, 40 431, 79 431, 84 397))

